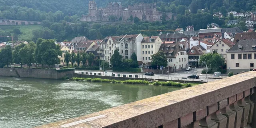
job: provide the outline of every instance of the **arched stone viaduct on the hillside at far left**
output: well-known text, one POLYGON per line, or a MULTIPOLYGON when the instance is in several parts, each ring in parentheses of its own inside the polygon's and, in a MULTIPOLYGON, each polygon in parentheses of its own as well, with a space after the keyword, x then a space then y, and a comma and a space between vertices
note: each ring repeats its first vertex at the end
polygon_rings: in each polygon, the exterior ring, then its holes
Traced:
POLYGON ((26 20, 5 20, 0 19, 0 25, 30 25, 30 24, 41 24, 38 21, 26 21, 26 20))

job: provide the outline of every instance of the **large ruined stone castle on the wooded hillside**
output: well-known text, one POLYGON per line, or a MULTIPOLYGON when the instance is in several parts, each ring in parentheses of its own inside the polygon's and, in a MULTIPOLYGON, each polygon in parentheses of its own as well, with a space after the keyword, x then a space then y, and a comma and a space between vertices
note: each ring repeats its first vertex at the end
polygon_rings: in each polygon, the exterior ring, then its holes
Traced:
POLYGON ((110 2, 105 8, 97 8, 96 2, 89 1, 88 10, 88 15, 82 15, 80 21, 126 21, 130 16, 138 17, 142 21, 160 21, 162 16, 166 20, 176 19, 176 14, 158 11, 156 3, 136 3, 123 8, 121 2, 110 2))

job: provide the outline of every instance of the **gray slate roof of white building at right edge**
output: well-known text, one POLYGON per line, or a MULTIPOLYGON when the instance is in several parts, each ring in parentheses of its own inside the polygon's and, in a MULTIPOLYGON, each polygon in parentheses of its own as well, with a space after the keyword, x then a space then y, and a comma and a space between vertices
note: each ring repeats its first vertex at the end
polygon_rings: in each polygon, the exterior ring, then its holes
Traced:
POLYGON ((256 46, 256 39, 239 40, 227 52, 256 52, 255 46, 256 46), (252 46, 254 46, 254 49, 252 48, 252 46))

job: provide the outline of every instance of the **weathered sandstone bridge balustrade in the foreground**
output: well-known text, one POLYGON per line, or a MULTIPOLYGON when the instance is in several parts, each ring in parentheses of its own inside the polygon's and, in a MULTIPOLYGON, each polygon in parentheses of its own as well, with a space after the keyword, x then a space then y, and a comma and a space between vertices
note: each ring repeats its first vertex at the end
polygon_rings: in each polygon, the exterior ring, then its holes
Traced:
POLYGON ((246 72, 38 128, 256 128, 255 86, 246 72))

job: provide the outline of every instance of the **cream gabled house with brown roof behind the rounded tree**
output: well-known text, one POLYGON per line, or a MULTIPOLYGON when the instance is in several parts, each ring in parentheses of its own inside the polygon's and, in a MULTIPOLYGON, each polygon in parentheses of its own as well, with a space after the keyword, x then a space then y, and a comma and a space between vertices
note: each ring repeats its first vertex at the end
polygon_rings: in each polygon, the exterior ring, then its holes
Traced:
POLYGON ((220 54, 223 58, 225 58, 225 63, 227 60, 227 54, 226 51, 228 51, 231 47, 233 46, 233 42, 230 40, 226 39, 221 39, 216 41, 212 46, 210 47, 210 51, 212 52, 217 52, 220 54))

